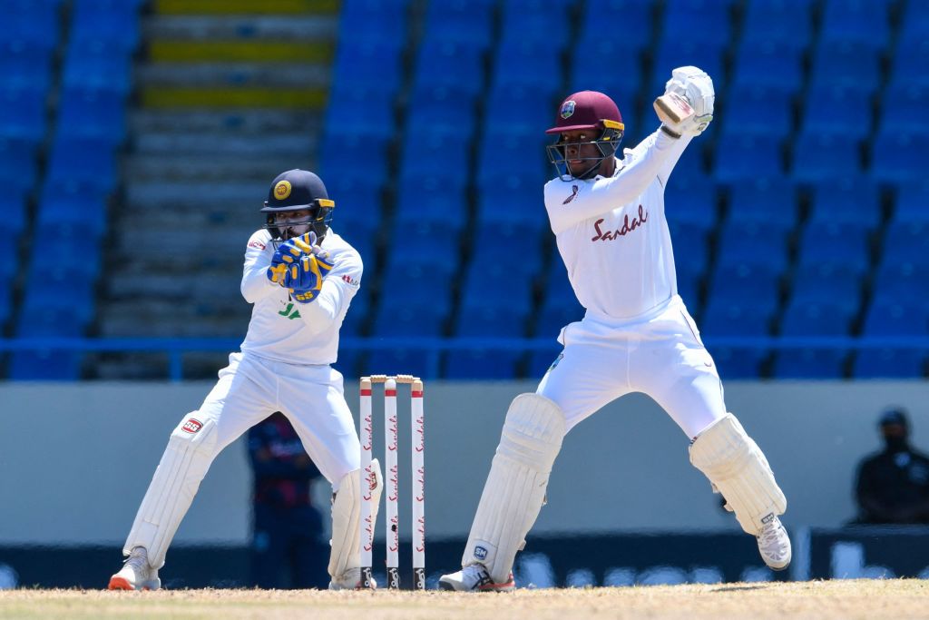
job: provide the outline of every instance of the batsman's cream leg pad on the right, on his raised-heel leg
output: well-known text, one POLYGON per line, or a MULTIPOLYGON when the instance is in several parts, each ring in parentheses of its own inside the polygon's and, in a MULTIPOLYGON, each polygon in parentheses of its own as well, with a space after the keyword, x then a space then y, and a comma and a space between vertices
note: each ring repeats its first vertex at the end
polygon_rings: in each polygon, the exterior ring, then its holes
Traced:
POLYGON ((761 448, 732 414, 700 433, 690 445, 690 462, 726 497, 748 534, 757 535, 766 518, 787 509, 761 448))

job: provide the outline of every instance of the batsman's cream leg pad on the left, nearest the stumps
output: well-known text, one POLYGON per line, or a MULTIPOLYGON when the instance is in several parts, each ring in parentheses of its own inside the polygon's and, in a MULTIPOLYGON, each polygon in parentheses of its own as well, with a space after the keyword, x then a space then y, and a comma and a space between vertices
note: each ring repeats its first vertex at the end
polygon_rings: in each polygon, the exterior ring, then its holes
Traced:
POLYGON ((520 394, 510 404, 462 566, 480 563, 497 583, 509 579, 517 551, 542 509, 565 432, 561 408, 544 396, 520 394))

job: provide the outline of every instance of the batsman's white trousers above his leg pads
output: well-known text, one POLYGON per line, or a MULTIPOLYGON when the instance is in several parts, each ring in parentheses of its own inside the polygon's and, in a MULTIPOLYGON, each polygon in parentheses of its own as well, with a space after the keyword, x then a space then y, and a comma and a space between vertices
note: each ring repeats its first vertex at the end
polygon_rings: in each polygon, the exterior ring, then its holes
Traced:
POLYGON ((630 392, 644 392, 693 440, 726 416, 723 384, 680 297, 622 323, 587 316, 561 330, 564 350, 537 393, 555 401, 567 429, 630 392))

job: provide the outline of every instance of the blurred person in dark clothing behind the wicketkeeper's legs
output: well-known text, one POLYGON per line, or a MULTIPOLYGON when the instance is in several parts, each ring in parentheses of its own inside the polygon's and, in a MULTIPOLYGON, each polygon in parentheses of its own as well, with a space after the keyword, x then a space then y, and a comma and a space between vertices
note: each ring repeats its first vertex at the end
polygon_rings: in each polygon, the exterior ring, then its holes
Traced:
POLYGON ((281 413, 248 431, 248 453, 255 472, 253 585, 326 587, 329 549, 309 493, 319 469, 281 413))

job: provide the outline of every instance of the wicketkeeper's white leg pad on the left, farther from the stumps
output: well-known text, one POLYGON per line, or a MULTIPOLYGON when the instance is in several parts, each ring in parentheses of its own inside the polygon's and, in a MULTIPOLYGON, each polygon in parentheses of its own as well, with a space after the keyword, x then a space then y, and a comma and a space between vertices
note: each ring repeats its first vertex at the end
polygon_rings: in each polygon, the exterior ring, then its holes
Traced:
POLYGON ((145 547, 152 568, 164 566, 164 555, 187 514, 207 469, 216 458, 216 422, 197 416, 184 418, 171 433, 168 447, 151 477, 126 538, 124 555, 145 547), (201 421, 205 419, 205 421, 201 421))

